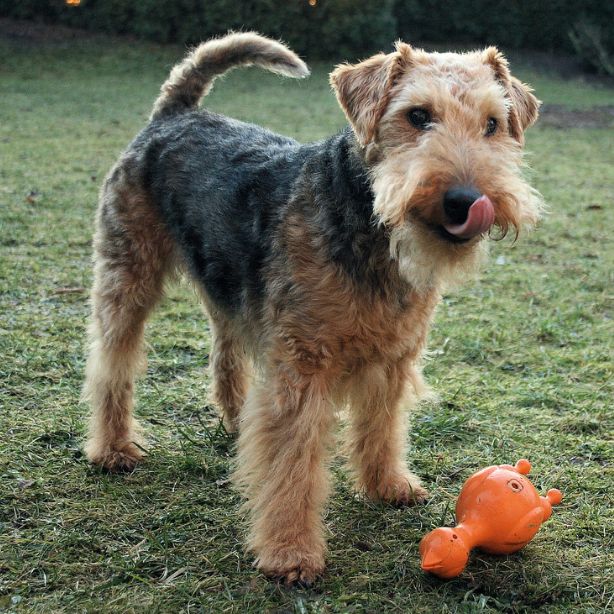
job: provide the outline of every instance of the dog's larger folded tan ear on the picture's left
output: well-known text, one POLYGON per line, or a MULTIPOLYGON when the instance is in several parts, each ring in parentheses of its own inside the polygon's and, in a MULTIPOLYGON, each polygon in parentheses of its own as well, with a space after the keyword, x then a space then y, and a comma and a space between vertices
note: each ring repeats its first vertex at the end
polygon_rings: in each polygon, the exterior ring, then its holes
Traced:
POLYGON ((395 47, 393 53, 379 53, 359 64, 340 64, 330 75, 337 100, 363 147, 373 141, 392 86, 411 63, 411 47, 400 41, 395 47))

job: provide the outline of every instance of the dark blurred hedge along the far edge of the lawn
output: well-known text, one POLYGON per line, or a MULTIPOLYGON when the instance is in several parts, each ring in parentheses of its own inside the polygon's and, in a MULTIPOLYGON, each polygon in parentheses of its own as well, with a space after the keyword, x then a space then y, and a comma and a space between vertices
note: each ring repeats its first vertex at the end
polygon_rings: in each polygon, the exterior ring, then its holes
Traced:
POLYGON ((160 43, 255 29, 310 60, 356 59, 396 38, 497 44, 614 76, 614 2, 603 0, 0 0, 0 15, 160 43))

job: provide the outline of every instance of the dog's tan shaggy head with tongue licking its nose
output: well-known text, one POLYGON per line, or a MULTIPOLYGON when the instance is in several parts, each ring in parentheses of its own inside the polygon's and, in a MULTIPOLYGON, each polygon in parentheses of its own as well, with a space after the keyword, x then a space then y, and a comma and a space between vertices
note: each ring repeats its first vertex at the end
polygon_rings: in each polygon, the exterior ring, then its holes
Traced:
POLYGON ((539 101, 496 48, 397 43, 338 66, 331 84, 370 166, 374 213, 416 287, 473 268, 482 239, 518 235, 539 218, 541 197, 522 174, 539 101))

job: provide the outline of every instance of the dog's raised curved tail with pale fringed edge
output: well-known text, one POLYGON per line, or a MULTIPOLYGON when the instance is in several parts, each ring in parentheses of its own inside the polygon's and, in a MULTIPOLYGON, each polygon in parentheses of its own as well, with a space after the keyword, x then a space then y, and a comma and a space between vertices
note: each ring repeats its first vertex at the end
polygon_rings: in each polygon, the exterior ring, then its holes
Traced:
POLYGON ((255 32, 236 32, 201 43, 177 64, 154 104, 151 119, 195 109, 219 75, 255 64, 287 77, 306 77, 307 65, 285 45, 255 32))

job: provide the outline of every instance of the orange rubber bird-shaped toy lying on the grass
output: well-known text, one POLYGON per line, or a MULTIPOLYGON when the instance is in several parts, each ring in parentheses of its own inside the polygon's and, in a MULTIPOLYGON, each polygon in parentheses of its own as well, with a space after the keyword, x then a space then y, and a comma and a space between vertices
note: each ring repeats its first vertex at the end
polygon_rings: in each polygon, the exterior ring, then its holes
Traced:
POLYGON ((491 554, 524 548, 563 498, 556 488, 540 497, 524 477, 529 471, 531 463, 522 459, 515 467, 493 465, 474 473, 456 503, 457 525, 435 529, 422 538, 422 569, 454 578, 465 568, 472 548, 491 554))

